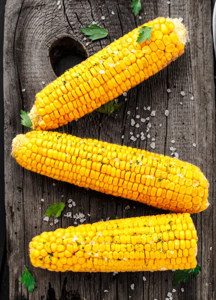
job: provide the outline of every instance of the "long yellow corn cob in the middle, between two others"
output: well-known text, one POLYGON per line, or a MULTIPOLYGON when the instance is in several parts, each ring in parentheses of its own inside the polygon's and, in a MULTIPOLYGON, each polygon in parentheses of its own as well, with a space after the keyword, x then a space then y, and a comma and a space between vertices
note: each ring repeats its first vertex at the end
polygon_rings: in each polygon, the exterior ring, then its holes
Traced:
POLYGON ((208 181, 197 166, 132 147, 52 131, 12 141, 12 156, 33 172, 176 212, 208 206, 208 181))

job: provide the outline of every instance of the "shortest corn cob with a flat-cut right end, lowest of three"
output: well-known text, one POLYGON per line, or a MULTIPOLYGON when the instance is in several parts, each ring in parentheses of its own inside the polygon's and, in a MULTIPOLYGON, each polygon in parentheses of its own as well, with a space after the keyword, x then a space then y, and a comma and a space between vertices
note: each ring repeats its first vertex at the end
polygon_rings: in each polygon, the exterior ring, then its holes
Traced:
POLYGON ((50 271, 160 271, 194 268, 196 241, 189 213, 173 213, 43 232, 29 251, 33 266, 50 271))

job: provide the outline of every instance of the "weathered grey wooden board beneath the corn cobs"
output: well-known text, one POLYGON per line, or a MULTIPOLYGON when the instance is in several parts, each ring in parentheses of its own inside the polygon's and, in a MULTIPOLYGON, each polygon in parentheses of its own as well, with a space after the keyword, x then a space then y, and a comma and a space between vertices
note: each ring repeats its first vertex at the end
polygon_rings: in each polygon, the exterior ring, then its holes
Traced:
MULTIPOLYGON (((73 224, 73 219, 64 216, 53 226, 43 221, 47 205, 62 200, 61 195, 64 195, 65 201, 71 197, 76 202, 76 206, 67 207, 67 211, 75 213, 78 205, 81 205, 85 215, 90 213, 87 218, 89 222, 105 219, 107 216, 137 216, 160 211, 137 202, 54 182, 22 169, 10 156, 12 138, 18 133, 26 132, 20 125, 20 109, 29 110, 35 93, 43 87, 42 81, 46 84, 56 77, 49 59, 49 49, 53 43, 63 38, 61 43, 65 41, 72 51, 74 43, 68 43, 65 39, 71 37, 83 45, 80 46, 82 53, 91 55, 114 38, 159 15, 183 17, 190 33, 190 43, 185 54, 130 90, 127 101, 124 101, 125 97, 119 97, 122 104, 118 112, 109 117, 93 112, 59 130, 147 150, 150 150, 151 138, 154 137, 154 151, 169 155, 169 147, 173 146, 170 141, 175 139, 174 147, 179 158, 197 164, 209 179, 211 205, 206 211, 193 216, 199 237, 197 260, 202 266, 202 272, 197 279, 177 286, 173 299, 214 299, 213 274, 216 278, 216 264, 210 247, 214 249, 216 246, 216 204, 213 199, 215 106, 210 0, 171 0, 170 4, 166 0, 142 0, 141 18, 133 16, 130 0, 59 2, 60 6, 57 6, 57 0, 7 0, 5 9, 5 206, 10 299, 159 300, 164 299, 167 292, 172 290, 171 271, 118 273, 113 276, 112 273, 55 273, 33 268, 28 258, 30 239, 42 231, 73 224), (105 16, 104 20, 101 19, 102 15, 105 16), (99 41, 90 41, 86 46, 88 40, 84 40, 80 28, 92 21, 106 28, 109 35, 99 41), (25 91, 21 91, 23 88, 25 91), (167 88, 170 88, 170 93, 167 93, 167 88), (180 91, 185 91, 185 96, 182 97, 180 91), (191 96, 194 97, 193 100, 191 96), (150 112, 144 110, 143 106, 150 106, 150 111, 156 111, 156 116, 150 116, 150 138, 144 141, 137 138, 133 142, 129 139, 129 132, 145 132, 146 124, 134 128, 126 119, 126 114, 130 110, 133 117, 136 114, 141 117, 149 116, 150 112), (168 117, 164 114, 165 109, 169 110, 168 117), (196 147, 192 146, 193 143, 196 143, 196 147), (55 186, 52 185, 53 182, 55 186), (21 191, 17 187, 21 187, 21 191), (39 204, 41 198, 45 200, 42 206, 39 204), (127 204, 131 209, 125 211, 127 204), (19 283, 24 264, 30 268, 37 281, 33 293, 28 293, 19 283), (146 281, 142 280, 143 275, 146 281), (133 290, 130 287, 132 283, 133 290), (180 290, 182 286, 184 292, 180 290), (108 292, 104 292, 105 289, 108 292)), ((55 55, 51 55, 52 60, 59 58, 58 54, 55 52, 55 55)), ((59 67, 63 70, 68 65, 59 67)))

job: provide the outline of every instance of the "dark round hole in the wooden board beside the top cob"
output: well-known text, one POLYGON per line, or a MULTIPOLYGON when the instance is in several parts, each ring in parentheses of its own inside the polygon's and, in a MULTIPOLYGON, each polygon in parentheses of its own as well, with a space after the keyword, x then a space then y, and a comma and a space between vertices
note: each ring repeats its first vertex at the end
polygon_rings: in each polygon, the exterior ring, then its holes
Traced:
POLYGON ((73 67, 87 58, 84 46, 70 36, 56 39, 49 48, 51 66, 60 76, 66 69, 73 67))

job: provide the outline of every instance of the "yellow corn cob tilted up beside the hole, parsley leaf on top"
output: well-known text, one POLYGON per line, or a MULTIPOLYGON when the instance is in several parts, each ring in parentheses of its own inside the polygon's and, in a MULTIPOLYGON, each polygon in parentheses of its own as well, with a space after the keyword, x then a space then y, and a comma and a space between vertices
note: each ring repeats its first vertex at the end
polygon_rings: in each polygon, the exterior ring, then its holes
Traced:
POLYGON ((138 30, 112 42, 98 53, 65 71, 36 94, 29 113, 33 129, 53 129, 116 98, 184 51, 188 33, 178 19, 159 17, 150 41, 137 43, 138 30))

